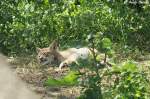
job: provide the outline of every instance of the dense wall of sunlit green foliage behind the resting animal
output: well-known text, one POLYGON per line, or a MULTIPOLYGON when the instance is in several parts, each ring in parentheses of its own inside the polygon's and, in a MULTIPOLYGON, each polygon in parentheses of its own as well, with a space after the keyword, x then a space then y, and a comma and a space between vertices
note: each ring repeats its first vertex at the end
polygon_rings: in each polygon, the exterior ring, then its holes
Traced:
POLYGON ((146 3, 1 0, 0 6, 0 49, 7 55, 31 53, 36 46, 48 46, 53 39, 64 45, 84 45, 83 39, 90 33, 109 38, 121 47, 149 49, 150 7, 146 3))

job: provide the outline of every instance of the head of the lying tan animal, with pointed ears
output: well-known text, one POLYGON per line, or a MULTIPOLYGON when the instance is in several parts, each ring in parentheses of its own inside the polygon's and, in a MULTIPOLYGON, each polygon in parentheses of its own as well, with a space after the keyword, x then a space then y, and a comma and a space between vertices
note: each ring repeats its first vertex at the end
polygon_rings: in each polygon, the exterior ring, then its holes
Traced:
POLYGON ((48 48, 37 48, 37 59, 41 65, 53 64, 57 61, 58 43, 53 41, 48 48))

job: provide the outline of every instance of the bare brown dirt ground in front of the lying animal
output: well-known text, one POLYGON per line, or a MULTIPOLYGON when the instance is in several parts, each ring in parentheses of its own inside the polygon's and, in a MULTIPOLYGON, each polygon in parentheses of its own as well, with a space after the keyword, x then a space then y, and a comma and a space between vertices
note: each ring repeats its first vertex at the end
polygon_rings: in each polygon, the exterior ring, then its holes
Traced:
POLYGON ((29 58, 9 58, 11 68, 20 79, 27 83, 27 87, 39 94, 41 99, 76 99, 79 96, 79 87, 46 87, 45 80, 51 76, 53 78, 60 78, 67 74, 68 68, 57 72, 57 67, 45 66, 41 67, 36 60, 29 58))

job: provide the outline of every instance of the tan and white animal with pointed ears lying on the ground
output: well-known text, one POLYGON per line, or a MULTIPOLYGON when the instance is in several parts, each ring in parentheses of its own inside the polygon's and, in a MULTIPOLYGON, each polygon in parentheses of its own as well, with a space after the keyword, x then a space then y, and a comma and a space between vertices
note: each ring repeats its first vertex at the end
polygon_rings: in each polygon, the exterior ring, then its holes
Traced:
MULTIPOLYGON (((97 53, 98 51, 95 50, 97 53)), ((37 59, 42 65, 59 65, 59 69, 63 66, 77 62, 78 59, 87 59, 91 55, 91 50, 87 47, 69 48, 64 51, 58 50, 58 44, 53 41, 47 48, 37 48, 37 59)))

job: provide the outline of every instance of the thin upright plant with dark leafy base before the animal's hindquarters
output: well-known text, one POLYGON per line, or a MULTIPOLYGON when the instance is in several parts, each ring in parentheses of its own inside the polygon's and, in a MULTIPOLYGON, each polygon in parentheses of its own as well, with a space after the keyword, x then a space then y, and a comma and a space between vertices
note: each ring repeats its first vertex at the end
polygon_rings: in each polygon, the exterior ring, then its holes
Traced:
MULTIPOLYGON (((81 81, 81 86, 83 87, 83 91, 79 99, 102 99, 102 91, 101 91, 101 77, 99 75, 99 67, 102 66, 100 64, 100 60, 97 60, 97 55, 95 53, 95 42, 94 42, 94 35, 90 34, 88 35, 88 42, 89 46, 91 48, 92 52, 92 59, 89 60, 89 67, 92 70, 92 73, 95 73, 94 75, 91 73, 85 73, 83 75, 84 79, 81 81)), ((108 39, 109 40, 109 39, 108 39)), ((102 41, 103 42, 103 41, 102 41)), ((109 47, 110 42, 105 42, 103 45, 103 48, 109 47)), ((106 62, 106 60, 105 60, 106 62)), ((81 63, 81 66, 84 65, 81 63)), ((87 66, 86 66, 87 67, 87 66)))

